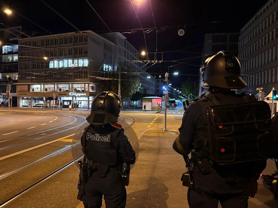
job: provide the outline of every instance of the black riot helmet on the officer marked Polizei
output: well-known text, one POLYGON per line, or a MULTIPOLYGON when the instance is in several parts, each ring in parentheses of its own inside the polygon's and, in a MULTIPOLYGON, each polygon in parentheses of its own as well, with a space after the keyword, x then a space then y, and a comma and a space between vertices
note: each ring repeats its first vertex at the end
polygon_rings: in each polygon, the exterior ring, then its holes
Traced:
POLYGON ((102 92, 95 96, 91 113, 86 120, 93 125, 117 123, 120 114, 121 100, 114 92, 102 92))

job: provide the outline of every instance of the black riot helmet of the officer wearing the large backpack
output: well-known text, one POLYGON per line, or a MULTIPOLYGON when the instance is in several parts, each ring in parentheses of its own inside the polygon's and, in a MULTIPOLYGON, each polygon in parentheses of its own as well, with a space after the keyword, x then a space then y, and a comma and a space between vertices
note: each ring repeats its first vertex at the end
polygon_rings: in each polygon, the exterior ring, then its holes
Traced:
POLYGON ((238 59, 227 51, 219 51, 207 58, 200 71, 203 88, 241 89, 247 86, 240 77, 238 59))

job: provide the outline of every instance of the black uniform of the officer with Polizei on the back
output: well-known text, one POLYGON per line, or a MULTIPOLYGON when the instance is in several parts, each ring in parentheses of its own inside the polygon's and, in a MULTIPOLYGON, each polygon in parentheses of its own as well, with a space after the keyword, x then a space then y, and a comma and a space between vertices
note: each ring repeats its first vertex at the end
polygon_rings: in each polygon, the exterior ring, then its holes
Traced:
POLYGON ((135 152, 128 138, 120 128, 105 125, 90 125, 85 132, 85 155, 97 164, 93 174, 84 184, 82 201, 87 207, 101 207, 104 195, 105 205, 125 207, 126 189, 119 172, 120 164, 133 164, 135 152))

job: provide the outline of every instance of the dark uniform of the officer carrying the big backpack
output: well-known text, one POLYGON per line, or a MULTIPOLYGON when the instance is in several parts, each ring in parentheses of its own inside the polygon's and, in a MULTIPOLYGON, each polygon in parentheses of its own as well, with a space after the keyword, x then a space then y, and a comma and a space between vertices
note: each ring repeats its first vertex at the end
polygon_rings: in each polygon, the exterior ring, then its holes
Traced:
MULTIPOLYGON (((252 101, 252 98, 243 94, 235 94, 234 91, 225 94, 212 93, 215 99, 222 104, 237 104, 246 102, 246 98, 252 101)), ((203 99, 203 98, 200 98, 203 99)), ((212 103, 207 101, 207 106, 212 103)), ((201 101, 201 102, 203 102, 201 101)), ((253 99, 253 101, 255 101, 253 99)), ((207 107, 206 106, 206 107, 207 107)), ((187 154, 194 146, 197 146, 200 152, 209 157, 204 147, 206 133, 206 121, 204 120, 204 109, 200 100, 196 100, 189 105, 183 114, 181 127, 179 128, 179 142, 187 154)), ((176 142, 173 149, 182 154, 176 142)), ((184 155, 184 154, 183 154, 184 155)), ((266 166, 266 160, 259 162, 243 162, 229 165, 217 165, 208 160, 211 168, 210 174, 202 175, 196 165, 193 167, 193 178, 195 182, 195 191, 188 189, 187 200, 191 208, 217 207, 220 201, 223 208, 227 207, 247 207, 250 186, 256 181, 256 174, 266 166)))

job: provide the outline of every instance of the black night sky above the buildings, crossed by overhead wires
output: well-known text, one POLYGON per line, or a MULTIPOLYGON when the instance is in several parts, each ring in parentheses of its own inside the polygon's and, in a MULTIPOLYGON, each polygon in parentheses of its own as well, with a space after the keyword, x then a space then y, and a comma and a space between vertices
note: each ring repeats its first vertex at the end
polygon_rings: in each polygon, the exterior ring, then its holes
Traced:
MULTIPOLYGON (((88 0, 102 20, 86 2, 86 0, 45 0, 53 9, 64 16, 79 30, 92 30, 96 33, 119 31, 128 32, 130 29, 141 28, 133 6, 143 28, 166 27, 157 35, 157 51, 163 52, 163 63, 154 64, 147 69, 149 73, 165 74, 168 67, 177 64, 173 60, 185 59, 175 67, 170 67, 170 73, 179 71, 179 74, 198 74, 202 53, 204 34, 213 32, 238 32, 243 25, 262 7, 267 0, 235 0, 235 1, 185 1, 185 0, 88 0), (151 10, 151 6, 154 14, 151 10), (184 29, 185 35, 179 36, 178 29, 184 29), (166 62, 167 61, 167 62, 166 62)), ((77 31, 65 20, 55 14, 40 0, 2 0, 1 3, 9 6, 19 14, 35 22, 37 25, 53 34, 77 31)), ((1 5, 3 7, 4 5, 1 5)), ((3 9, 2 9, 3 10, 3 9)), ((50 35, 42 28, 36 26, 15 12, 11 15, 0 13, 0 22, 10 26, 22 26, 27 34, 32 31, 37 35, 50 35)), ((1 28, 5 28, 0 24, 1 28)), ((145 29, 147 31, 148 29, 145 29)), ((132 34, 123 34, 138 51, 146 51, 142 30, 132 34)), ((156 51, 156 32, 145 34, 150 60, 154 60, 153 52, 156 51)), ((140 56, 144 59, 143 56, 140 56)), ((146 59, 146 58, 145 58, 146 59)), ((158 53, 157 60, 161 60, 158 53)), ((150 66, 148 64, 147 66, 150 66)), ((157 74, 158 75, 158 74, 157 74)), ((179 87, 188 78, 179 75, 169 80, 172 86, 179 87)), ((190 76, 195 80, 197 76, 190 76)))

